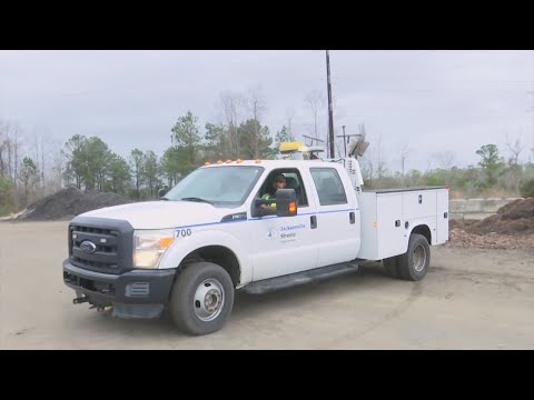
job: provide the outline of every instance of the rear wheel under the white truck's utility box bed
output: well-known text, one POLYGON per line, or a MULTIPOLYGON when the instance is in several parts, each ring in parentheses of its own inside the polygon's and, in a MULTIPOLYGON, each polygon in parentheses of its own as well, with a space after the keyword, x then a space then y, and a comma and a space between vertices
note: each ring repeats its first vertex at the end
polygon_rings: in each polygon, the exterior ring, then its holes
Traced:
POLYGON ((418 281, 425 278, 431 263, 431 246, 423 234, 413 233, 409 237, 408 251, 398 256, 398 272, 400 278, 418 281))

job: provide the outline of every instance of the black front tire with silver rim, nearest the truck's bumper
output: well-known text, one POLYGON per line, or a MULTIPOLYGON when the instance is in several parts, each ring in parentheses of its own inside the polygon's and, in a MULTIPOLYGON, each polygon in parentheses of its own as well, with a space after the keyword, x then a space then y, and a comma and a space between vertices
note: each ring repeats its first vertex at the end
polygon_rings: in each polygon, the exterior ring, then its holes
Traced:
POLYGON ((168 309, 172 322, 180 331, 200 336, 220 330, 230 316, 233 307, 234 282, 228 272, 211 262, 194 262, 178 276, 170 293, 168 309), (201 286, 202 282, 206 283, 201 286), (211 316, 205 313, 199 317, 199 313, 209 310, 202 308, 199 300, 195 300, 195 294, 207 290, 208 293, 201 298, 208 299, 209 296, 210 301, 212 300, 215 304, 221 303, 221 306, 215 307, 217 311, 214 311, 211 316), (218 296, 220 293, 222 294, 218 296))

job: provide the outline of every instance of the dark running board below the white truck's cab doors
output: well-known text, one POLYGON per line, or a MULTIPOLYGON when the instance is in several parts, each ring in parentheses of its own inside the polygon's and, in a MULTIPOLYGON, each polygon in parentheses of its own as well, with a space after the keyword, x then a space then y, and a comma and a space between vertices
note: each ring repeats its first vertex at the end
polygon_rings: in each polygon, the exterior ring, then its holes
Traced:
POLYGON ((308 271, 287 274, 284 277, 264 279, 257 282, 248 283, 241 290, 248 294, 264 294, 267 292, 297 287, 324 279, 340 277, 353 273, 358 270, 357 264, 339 263, 328 267, 316 268, 308 271))

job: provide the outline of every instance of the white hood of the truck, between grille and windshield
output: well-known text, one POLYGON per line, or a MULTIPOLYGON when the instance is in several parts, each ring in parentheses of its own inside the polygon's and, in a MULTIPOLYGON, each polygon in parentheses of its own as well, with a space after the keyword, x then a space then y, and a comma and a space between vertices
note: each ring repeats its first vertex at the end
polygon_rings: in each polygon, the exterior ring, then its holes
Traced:
POLYGON ((191 201, 145 201, 107 207, 80 214, 128 221, 134 229, 165 229, 200 223, 219 222, 237 209, 216 208, 191 201))

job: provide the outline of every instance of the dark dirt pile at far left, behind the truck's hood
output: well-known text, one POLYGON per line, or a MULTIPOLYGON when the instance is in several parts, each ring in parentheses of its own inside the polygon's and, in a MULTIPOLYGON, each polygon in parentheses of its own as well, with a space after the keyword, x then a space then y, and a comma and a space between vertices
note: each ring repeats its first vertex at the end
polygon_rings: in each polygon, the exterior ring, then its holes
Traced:
POLYGON ((116 193, 86 192, 68 188, 29 206, 17 219, 23 221, 70 219, 87 211, 129 202, 131 201, 116 193))

